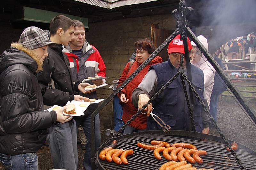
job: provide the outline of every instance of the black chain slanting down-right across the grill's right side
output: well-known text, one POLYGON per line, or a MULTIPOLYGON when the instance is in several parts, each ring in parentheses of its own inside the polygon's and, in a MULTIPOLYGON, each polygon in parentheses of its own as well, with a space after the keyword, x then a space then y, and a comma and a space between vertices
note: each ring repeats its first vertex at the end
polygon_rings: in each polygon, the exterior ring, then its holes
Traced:
POLYGON ((201 106, 204 108, 204 111, 206 112, 208 117, 213 122, 214 126, 216 127, 217 131, 220 134, 220 137, 224 140, 226 146, 230 149, 231 154, 234 155, 234 157, 236 158, 236 162, 241 166, 241 169, 245 169, 246 170, 246 168, 242 165, 241 160, 236 156, 236 152, 231 148, 228 140, 226 139, 226 137, 224 136, 224 134, 222 133, 220 128, 217 126, 217 122, 214 120, 214 118, 212 117, 211 113, 208 111, 208 108, 204 105, 204 101, 199 97, 199 95, 197 94, 195 88, 192 86, 191 82, 188 80, 187 76, 184 73, 180 73, 180 75, 183 76, 185 78, 185 80, 187 81, 188 86, 191 88, 191 90, 195 94, 197 100, 199 101, 201 106))

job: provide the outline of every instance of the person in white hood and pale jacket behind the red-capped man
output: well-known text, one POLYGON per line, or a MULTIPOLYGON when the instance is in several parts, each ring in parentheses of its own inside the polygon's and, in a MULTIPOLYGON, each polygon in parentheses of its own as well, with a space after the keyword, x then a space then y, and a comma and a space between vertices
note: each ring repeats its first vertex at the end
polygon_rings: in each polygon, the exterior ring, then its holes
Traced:
MULTIPOLYGON (((207 39, 203 35, 197 36, 197 39, 204 45, 208 50, 207 39)), ((210 106, 210 100, 212 95, 212 88, 214 85, 214 73, 215 69, 212 67, 212 64, 207 61, 205 56, 201 51, 196 47, 196 44, 192 41, 192 50, 189 54, 190 63, 203 70, 204 72, 204 92, 208 104, 208 110, 210 106)))

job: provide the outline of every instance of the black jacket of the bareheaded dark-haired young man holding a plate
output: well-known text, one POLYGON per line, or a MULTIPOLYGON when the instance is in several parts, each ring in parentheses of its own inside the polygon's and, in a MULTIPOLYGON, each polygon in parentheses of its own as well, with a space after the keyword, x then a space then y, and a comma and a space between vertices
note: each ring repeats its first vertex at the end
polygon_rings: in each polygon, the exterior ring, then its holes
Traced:
POLYGON ((43 63, 44 71, 37 73, 44 104, 48 106, 65 106, 68 100, 74 100, 69 61, 67 55, 61 52, 62 49, 61 44, 48 48, 48 56, 43 63))

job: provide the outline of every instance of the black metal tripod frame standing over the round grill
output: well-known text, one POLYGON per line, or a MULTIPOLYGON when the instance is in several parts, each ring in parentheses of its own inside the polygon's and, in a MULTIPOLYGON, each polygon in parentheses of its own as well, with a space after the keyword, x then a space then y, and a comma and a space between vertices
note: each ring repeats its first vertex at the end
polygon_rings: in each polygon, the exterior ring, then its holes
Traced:
MULTIPOLYGON (((138 67, 129 78, 127 78, 112 94, 108 96, 106 100, 104 100, 99 107, 97 107, 94 112, 91 115, 91 158, 92 158, 92 168, 94 167, 95 163, 95 116, 105 107, 110 100, 114 98, 114 96, 120 92, 124 86, 126 86, 155 56, 162 51, 166 45, 169 44, 169 42, 177 35, 181 34, 181 40, 184 42, 184 48, 185 48, 185 60, 187 72, 188 72, 188 80, 191 81, 191 70, 190 70, 190 62, 189 62, 189 54, 188 54, 188 44, 187 44, 187 36, 192 39, 192 41, 195 42, 199 50, 204 54, 204 56, 207 58, 207 60, 212 64, 214 69, 219 73, 222 80, 226 83, 226 85, 229 87, 231 92, 234 94, 236 99, 240 102, 240 104, 243 106, 244 110, 246 111, 245 114, 250 116, 252 119, 252 122, 254 125, 256 124, 256 113, 254 110, 252 110, 247 102, 245 101, 244 97, 241 95, 241 93, 238 91, 236 86, 231 82, 230 78, 226 76, 223 69, 219 66, 219 64, 214 60, 214 58, 211 56, 211 54, 204 48, 202 43, 196 38, 195 34, 190 30, 189 21, 186 20, 187 16, 191 14, 193 9, 191 7, 186 7, 185 0, 180 0, 179 9, 173 10, 172 13, 175 15, 175 17, 178 19, 177 21, 177 29, 170 35, 169 38, 167 38, 163 44, 161 44, 156 51, 154 51, 146 61, 144 61, 140 67, 138 67)), ((192 83, 192 82, 191 82, 192 83)), ((190 89, 189 89, 190 90, 190 89)), ((190 93, 192 94, 192 93, 190 93)), ((208 115, 209 116, 209 115, 208 115)), ((214 125, 216 125, 216 122, 213 122, 214 125)), ((219 129, 216 125, 216 128, 219 129)))

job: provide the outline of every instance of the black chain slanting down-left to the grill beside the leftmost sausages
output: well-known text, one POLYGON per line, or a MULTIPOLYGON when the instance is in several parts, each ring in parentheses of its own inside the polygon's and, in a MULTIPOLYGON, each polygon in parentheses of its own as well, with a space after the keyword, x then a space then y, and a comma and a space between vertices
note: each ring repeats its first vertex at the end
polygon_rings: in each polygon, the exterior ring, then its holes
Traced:
POLYGON ((163 92, 164 89, 165 89, 168 85, 170 85, 170 84, 173 82, 173 80, 175 80, 175 79, 179 76, 179 74, 180 74, 180 72, 177 72, 161 89, 159 89, 159 91, 156 92, 156 93, 154 94, 154 96, 153 96, 151 99, 149 99, 148 102, 147 102, 145 105, 143 105, 143 107, 142 107, 140 110, 137 111, 137 113, 136 113, 135 115, 132 115, 132 118, 131 118, 130 120, 128 120, 119 130, 116 131, 116 133, 115 133, 112 137, 110 137, 106 142, 104 142, 104 143, 100 146, 100 148, 98 149, 98 151, 100 151, 102 148, 104 148, 112 139, 114 139, 114 138, 117 136, 118 133, 120 133, 122 130, 124 130, 124 128, 125 128, 128 124, 130 124, 130 122, 132 122, 132 121, 137 117, 137 115, 139 115, 139 114, 148 106, 149 103, 151 103, 153 100, 155 100, 156 97, 157 97, 161 92, 163 92))

